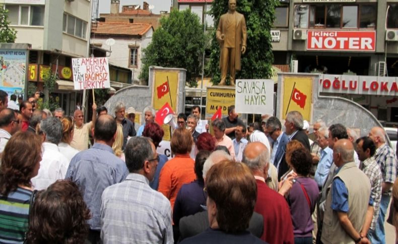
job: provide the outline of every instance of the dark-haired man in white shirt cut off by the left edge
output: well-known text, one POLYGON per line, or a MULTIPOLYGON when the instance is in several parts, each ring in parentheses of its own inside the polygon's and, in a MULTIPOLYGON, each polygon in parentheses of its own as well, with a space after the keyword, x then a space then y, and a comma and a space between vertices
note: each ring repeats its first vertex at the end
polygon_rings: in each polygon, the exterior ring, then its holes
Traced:
POLYGON ((11 136, 20 129, 21 123, 15 111, 7 108, 0 112, 0 153, 3 153, 11 136))

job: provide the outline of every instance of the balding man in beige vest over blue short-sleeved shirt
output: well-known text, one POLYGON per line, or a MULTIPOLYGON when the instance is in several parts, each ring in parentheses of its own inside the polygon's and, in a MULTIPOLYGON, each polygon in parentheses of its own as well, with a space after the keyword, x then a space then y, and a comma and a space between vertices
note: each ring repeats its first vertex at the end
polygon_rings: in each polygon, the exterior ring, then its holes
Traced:
POLYGON ((354 162, 354 146, 348 139, 334 143, 337 174, 327 194, 323 216, 323 243, 370 243, 360 234, 368 211, 373 214, 369 178, 354 162))

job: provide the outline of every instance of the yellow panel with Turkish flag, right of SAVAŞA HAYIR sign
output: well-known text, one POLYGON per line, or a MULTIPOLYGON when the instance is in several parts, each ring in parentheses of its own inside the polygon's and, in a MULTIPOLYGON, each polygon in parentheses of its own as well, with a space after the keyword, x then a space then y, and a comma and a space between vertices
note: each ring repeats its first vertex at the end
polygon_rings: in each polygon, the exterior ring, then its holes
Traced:
POLYGON ((290 111, 298 111, 303 119, 311 121, 312 78, 284 76, 282 117, 290 111))

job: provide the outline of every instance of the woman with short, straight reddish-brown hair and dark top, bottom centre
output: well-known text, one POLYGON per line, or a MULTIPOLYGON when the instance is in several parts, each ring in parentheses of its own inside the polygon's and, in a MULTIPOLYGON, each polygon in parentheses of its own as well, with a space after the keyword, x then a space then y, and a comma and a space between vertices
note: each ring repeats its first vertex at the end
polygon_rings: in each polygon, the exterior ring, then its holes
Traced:
POLYGON ((206 175, 210 228, 183 243, 266 243, 247 231, 257 198, 257 185, 249 168, 224 160, 206 175))

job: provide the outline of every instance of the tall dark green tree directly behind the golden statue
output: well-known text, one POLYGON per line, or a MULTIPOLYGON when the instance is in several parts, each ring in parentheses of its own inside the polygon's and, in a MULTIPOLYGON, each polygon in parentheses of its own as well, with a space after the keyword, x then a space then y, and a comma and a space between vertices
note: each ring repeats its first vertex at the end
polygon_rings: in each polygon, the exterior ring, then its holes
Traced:
MULTIPOLYGON (((272 74, 274 55, 271 44, 271 28, 275 19, 275 7, 279 0, 237 0, 236 10, 244 15, 247 27, 247 47, 241 57, 241 70, 236 79, 269 78, 272 74)), ((215 29, 211 44, 210 62, 207 75, 212 75, 212 83, 218 84, 220 74, 220 46, 216 31, 221 15, 228 12, 228 0, 214 0, 210 14, 214 18, 215 29)))

